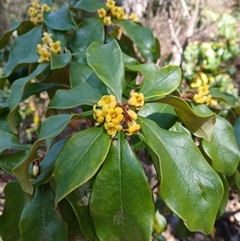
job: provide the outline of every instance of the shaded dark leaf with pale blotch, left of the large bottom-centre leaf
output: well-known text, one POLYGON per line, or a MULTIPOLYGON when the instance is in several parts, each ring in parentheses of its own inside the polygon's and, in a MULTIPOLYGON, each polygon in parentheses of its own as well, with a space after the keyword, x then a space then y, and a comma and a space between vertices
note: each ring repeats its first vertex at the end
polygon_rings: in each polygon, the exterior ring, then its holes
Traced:
POLYGON ((83 186, 71 192, 66 198, 71 204, 81 227, 83 234, 91 241, 97 241, 97 235, 89 213, 89 192, 90 184, 87 182, 83 186))

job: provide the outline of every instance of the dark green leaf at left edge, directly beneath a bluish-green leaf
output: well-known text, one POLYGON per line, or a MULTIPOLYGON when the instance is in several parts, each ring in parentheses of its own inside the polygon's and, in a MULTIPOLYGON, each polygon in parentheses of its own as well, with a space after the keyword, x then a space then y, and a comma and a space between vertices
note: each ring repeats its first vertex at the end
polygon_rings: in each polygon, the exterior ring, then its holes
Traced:
POLYGON ((27 156, 27 151, 21 151, 11 154, 0 155, 0 167, 10 174, 13 174, 12 170, 27 156))

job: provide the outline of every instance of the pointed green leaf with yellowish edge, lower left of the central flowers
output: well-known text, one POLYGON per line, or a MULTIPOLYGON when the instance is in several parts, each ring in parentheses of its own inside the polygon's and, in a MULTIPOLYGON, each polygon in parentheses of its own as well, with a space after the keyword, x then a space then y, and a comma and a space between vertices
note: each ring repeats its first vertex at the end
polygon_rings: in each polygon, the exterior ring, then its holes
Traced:
POLYGON ((67 141, 54 167, 56 203, 93 177, 110 143, 111 138, 98 127, 80 131, 67 141))

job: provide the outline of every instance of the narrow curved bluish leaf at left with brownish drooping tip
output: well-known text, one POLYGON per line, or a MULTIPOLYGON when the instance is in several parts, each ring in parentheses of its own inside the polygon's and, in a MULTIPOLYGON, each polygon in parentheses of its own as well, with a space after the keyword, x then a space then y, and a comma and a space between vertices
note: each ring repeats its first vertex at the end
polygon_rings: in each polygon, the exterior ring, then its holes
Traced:
POLYGON ((18 104, 22 101, 23 93, 24 93, 24 90, 25 90, 27 84, 29 84, 29 82, 34 77, 41 74, 47 68, 47 66, 48 66, 47 63, 38 65, 38 67, 31 74, 29 74, 28 76, 26 76, 24 78, 16 80, 12 84, 11 92, 8 97, 10 113, 9 113, 7 119, 8 119, 9 127, 13 133, 17 133, 15 123, 14 123, 14 116, 18 109, 18 104))

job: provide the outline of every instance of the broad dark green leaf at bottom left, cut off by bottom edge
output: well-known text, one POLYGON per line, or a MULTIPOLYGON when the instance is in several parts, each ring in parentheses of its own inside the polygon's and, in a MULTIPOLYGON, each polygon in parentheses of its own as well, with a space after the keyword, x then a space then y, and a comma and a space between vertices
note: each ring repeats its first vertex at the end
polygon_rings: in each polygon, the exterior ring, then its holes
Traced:
POLYGON ((67 240, 67 226, 55 208, 49 184, 36 188, 33 199, 23 209, 19 227, 23 241, 67 240))

